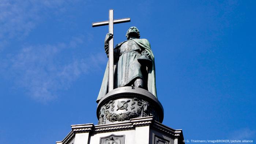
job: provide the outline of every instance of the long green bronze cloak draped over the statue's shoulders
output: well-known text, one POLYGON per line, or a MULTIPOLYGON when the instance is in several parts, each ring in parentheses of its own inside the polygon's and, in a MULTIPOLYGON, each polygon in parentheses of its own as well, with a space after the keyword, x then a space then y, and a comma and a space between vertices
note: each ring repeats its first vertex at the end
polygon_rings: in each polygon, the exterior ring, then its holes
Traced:
MULTIPOLYGON (((136 39, 132 39, 132 40, 134 42, 136 42, 142 50, 146 50, 150 54, 150 57, 152 60, 152 65, 151 65, 151 67, 147 67, 147 72, 148 72, 147 73, 147 75, 148 75, 147 76, 147 88, 148 88, 148 91, 151 92, 157 98, 157 89, 155 86, 155 58, 154 58, 154 54, 151 50, 150 43, 148 42, 147 39, 137 39, 136 38, 136 39)), ((127 41, 124 41, 124 42, 127 42, 127 41)), ((114 49, 120 48, 120 46, 124 42, 118 43, 114 49)), ((117 65, 117 63, 114 63, 114 69, 116 69, 116 65, 117 65)), ((103 77, 102 84, 101 84, 101 89, 99 90, 99 95, 96 100, 97 103, 99 102, 99 100, 101 100, 101 98, 103 96, 105 96, 108 93, 108 79, 109 79, 109 62, 106 66, 106 70, 105 70, 104 77, 103 77)))

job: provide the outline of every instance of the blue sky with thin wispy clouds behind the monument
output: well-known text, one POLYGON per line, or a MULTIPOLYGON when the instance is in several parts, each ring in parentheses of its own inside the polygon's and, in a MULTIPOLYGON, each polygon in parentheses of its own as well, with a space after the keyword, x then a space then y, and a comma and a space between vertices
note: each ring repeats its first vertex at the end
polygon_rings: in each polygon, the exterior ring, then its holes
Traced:
POLYGON ((97 124, 96 98, 114 43, 130 26, 155 55, 163 124, 191 140, 256 142, 256 2, 0 1, 0 141, 54 144, 72 124, 97 124))

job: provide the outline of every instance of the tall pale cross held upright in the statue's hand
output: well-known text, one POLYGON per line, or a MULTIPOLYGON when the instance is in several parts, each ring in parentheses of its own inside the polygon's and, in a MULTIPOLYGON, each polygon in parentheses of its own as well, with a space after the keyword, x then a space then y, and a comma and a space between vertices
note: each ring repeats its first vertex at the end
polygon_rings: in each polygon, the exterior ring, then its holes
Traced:
MULTIPOLYGON (((114 19, 114 10, 109 10, 109 20, 93 23, 93 27, 109 25, 109 33, 114 33, 113 28, 116 23, 131 22, 130 18, 114 19)), ((114 89, 114 34, 109 41, 109 92, 114 89)))

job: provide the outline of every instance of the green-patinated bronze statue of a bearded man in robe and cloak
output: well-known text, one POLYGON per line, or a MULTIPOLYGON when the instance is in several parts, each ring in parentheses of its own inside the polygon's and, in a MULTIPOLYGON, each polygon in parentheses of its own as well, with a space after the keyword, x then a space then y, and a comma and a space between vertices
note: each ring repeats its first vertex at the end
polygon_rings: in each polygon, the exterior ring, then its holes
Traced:
MULTIPOLYGON (((135 86, 144 88, 157 97, 155 87, 154 55, 147 39, 140 39, 136 27, 130 27, 126 34, 127 41, 118 43, 114 48, 114 88, 135 86)), ((108 33, 104 49, 108 56, 109 40, 113 34, 108 33)), ((97 102, 108 93, 108 65, 103 77, 97 102)))

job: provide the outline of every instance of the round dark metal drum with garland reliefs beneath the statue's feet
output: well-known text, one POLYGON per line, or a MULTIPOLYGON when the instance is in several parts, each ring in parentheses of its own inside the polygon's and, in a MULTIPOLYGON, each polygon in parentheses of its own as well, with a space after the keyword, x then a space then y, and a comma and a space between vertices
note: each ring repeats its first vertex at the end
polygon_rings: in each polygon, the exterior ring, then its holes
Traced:
POLYGON ((162 123, 163 107, 153 94, 138 87, 116 88, 106 94, 97 106, 99 125, 148 116, 162 123))

